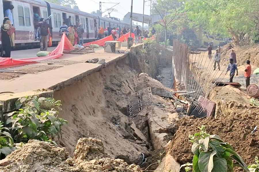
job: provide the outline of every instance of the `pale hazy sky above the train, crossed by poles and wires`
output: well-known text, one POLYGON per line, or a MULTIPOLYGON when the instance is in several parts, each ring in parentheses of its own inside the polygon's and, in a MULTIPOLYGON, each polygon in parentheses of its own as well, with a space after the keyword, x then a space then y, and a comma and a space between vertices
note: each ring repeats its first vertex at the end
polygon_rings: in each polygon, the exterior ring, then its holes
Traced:
MULTIPOLYGON (((128 12, 130 12, 130 6, 131 6, 131 0, 75 0, 79 9, 81 11, 85 11, 87 13, 91 13, 92 11, 99 10, 99 2, 102 2, 102 11, 105 11, 105 9, 111 8, 115 4, 112 3, 119 3, 119 5, 116 5, 115 9, 118 10, 118 12, 113 11, 111 13, 111 17, 117 17, 119 19, 123 19, 123 16, 126 15, 128 12), (107 3, 105 3, 107 2, 107 3)), ((133 0, 133 13, 143 13, 143 0, 133 0)), ((108 14, 108 12, 105 12, 102 14, 102 16, 108 14)), ((145 2, 145 10, 144 14, 149 15, 150 14, 150 1, 146 0, 145 2)))

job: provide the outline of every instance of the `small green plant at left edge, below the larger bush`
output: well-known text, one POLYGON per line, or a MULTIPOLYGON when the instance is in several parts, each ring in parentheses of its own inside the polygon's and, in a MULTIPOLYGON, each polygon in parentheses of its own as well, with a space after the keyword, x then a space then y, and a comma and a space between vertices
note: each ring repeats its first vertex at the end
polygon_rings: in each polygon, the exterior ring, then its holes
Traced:
POLYGON ((0 121, 0 155, 4 154, 5 156, 9 155, 14 151, 14 140, 11 137, 8 128, 3 127, 3 122, 0 121))

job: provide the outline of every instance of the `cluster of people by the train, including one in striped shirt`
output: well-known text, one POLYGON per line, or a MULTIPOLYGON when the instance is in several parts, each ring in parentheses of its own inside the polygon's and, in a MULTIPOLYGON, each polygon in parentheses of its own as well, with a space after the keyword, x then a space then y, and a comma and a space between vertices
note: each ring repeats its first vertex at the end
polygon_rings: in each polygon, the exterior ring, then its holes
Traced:
POLYGON ((76 19, 75 25, 71 24, 71 16, 69 16, 68 19, 65 19, 59 28, 61 36, 64 32, 73 46, 76 44, 83 45, 83 33, 85 30, 83 25, 80 24, 79 19, 76 19))

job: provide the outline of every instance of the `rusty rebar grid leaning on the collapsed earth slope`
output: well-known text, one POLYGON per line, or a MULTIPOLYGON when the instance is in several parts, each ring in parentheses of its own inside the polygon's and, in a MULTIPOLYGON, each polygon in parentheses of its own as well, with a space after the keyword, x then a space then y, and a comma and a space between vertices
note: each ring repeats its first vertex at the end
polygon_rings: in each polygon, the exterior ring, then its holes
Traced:
POLYGON ((154 107, 150 87, 130 95, 128 97, 128 102, 129 117, 136 125, 141 124, 151 118, 151 113, 153 113, 154 107))

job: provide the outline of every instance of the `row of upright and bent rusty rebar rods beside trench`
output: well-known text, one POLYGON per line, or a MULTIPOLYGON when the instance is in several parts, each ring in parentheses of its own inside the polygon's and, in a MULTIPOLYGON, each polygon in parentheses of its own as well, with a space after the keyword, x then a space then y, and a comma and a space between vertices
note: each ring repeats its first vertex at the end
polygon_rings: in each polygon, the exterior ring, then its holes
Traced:
MULTIPOLYGON (((213 70, 213 57, 206 61, 205 53, 190 50, 186 44, 179 40, 173 41, 173 51, 178 91, 186 91, 187 94, 184 96, 191 100, 192 110, 197 110, 200 114, 210 106, 209 101, 205 101, 205 97, 215 87, 212 81, 221 82, 226 69, 213 70), (205 68, 205 64, 207 66, 206 73, 203 73, 202 69, 205 68), (199 97, 201 98, 199 99, 199 97)), ((223 60, 220 63, 222 67, 223 60)))

